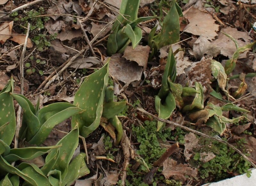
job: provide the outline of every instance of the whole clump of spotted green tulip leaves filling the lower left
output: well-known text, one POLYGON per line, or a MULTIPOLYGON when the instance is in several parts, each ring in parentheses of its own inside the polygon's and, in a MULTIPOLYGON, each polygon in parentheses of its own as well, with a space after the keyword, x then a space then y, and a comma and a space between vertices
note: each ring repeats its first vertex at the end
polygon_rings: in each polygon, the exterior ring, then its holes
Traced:
POLYGON ((14 94, 13 80, 9 80, 0 92, 0 185, 65 186, 89 174, 86 154, 74 156, 79 134, 87 137, 100 125, 102 117, 116 129, 116 144, 120 143, 123 134, 116 115, 123 111, 126 102, 114 101, 113 88, 107 88, 107 82, 108 62, 85 78, 75 94, 74 104, 53 103, 39 109, 39 101, 34 107, 25 96, 14 94), (11 148, 16 131, 13 98, 23 109, 20 141, 25 140, 33 147, 11 148), (72 130, 55 146, 39 147, 53 127, 69 117, 72 117, 72 130), (29 161, 43 154, 48 155, 42 167, 28 162, 12 166, 15 161, 29 161))

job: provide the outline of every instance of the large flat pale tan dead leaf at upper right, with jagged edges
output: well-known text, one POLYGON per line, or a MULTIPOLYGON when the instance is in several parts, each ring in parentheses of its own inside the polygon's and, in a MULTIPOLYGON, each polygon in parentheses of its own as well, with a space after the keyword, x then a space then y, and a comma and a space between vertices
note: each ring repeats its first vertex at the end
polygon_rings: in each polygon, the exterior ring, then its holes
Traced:
POLYGON ((190 8, 185 14, 189 20, 189 24, 183 29, 194 35, 204 36, 209 40, 213 40, 219 31, 219 25, 215 24, 212 15, 204 11, 200 11, 194 7, 190 8))

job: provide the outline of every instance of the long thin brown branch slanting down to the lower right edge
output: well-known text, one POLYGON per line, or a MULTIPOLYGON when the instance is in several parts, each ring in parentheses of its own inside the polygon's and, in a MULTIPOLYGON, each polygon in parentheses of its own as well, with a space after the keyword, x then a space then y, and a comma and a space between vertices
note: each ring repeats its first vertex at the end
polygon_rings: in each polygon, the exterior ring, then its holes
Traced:
MULTIPOLYGON (((184 129, 184 130, 189 131, 189 132, 193 132, 193 133, 195 133, 195 134, 197 134, 197 135, 199 135, 199 136, 203 136, 203 137, 206 137, 206 138, 210 138, 210 139, 212 139, 212 140, 215 140, 215 141, 219 141, 220 143, 225 143, 225 144, 228 145, 228 147, 234 149, 238 154, 240 154, 241 156, 243 156, 245 160, 249 161, 249 162, 251 163, 251 165, 252 165, 254 168, 256 168, 256 165, 255 165, 246 155, 244 155, 240 150, 238 150, 236 147, 234 147, 233 145, 229 144, 229 143, 228 143, 227 141, 225 141, 225 140, 222 140, 222 139, 220 139, 220 138, 215 138, 215 137, 213 137, 213 136, 209 136, 209 135, 204 134, 204 133, 202 133, 202 132, 198 132, 198 131, 196 131, 196 130, 193 130, 193 129, 191 129, 191 128, 189 128, 189 127, 186 127, 186 126, 184 126, 184 125, 180 125, 180 124, 175 123, 175 122, 173 122, 173 121, 169 121, 169 120, 166 120, 166 119, 159 118, 159 117, 157 117, 157 116, 155 116, 155 115, 153 115, 153 114, 150 114, 149 112, 145 111, 145 110, 142 109, 142 108, 137 108, 136 110, 137 110, 137 111, 140 111, 140 112, 142 112, 142 113, 144 113, 144 114, 146 114, 146 115, 148 115, 148 116, 151 116, 152 118, 156 119, 157 121, 165 122, 165 123, 168 123, 168 124, 171 124, 171 125, 180 127, 181 129, 184 129)), ((135 110, 135 111, 136 111, 136 110, 135 110)))

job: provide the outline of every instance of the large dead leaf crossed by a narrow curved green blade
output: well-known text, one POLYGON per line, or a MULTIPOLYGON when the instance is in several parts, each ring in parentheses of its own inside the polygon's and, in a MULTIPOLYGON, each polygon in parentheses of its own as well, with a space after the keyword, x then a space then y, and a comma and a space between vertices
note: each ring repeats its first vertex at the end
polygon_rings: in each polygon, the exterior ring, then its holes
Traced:
MULTIPOLYGON (((239 47, 243 47, 244 45, 247 45, 251 43, 251 37, 247 35, 246 32, 240 32, 236 28, 222 28, 222 32, 227 33, 228 35, 232 36, 233 38, 236 39, 238 42, 239 47), (244 40, 244 41, 243 41, 244 40)), ((220 47, 221 51, 220 54, 224 56, 228 56, 229 58, 232 57, 234 52, 236 51, 236 45, 235 43, 227 36, 225 36, 223 33, 220 32, 218 39, 214 40, 211 42, 212 44, 215 44, 220 47)), ((243 53, 239 56, 239 58, 244 58, 246 57, 246 53, 243 53)))

